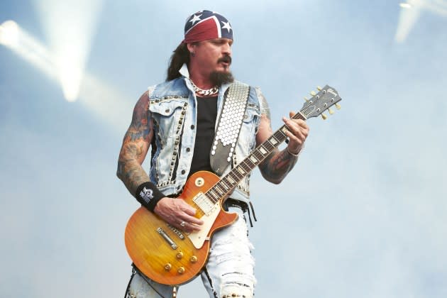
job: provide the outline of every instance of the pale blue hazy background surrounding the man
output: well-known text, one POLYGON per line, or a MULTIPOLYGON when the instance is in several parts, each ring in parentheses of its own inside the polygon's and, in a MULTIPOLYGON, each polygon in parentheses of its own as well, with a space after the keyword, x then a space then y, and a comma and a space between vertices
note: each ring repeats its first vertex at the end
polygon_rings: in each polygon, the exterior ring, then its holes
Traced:
MULTIPOLYGON (((2 0, 0 23, 49 46, 44 2, 2 0)), ((0 45, 0 297, 123 295, 138 204, 116 178, 118 151, 201 9, 231 22, 233 73, 261 87, 274 129, 316 85, 343 98, 309 119, 282 184, 253 173, 256 297, 447 297, 447 18, 422 11, 395 43, 399 1, 387 0, 104 1, 86 72, 107 92, 75 102, 0 45)), ((180 297, 206 297, 202 282, 180 297)))

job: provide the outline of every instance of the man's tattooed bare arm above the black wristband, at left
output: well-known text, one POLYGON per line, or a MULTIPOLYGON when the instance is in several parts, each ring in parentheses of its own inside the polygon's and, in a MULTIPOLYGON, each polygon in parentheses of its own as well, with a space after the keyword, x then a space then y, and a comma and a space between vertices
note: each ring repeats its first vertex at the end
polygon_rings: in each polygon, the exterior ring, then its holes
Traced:
POLYGON ((141 167, 153 138, 153 121, 148 115, 148 105, 148 94, 145 92, 133 109, 131 126, 124 135, 118 158, 116 175, 132 195, 140 184, 150 181, 148 174, 141 167))

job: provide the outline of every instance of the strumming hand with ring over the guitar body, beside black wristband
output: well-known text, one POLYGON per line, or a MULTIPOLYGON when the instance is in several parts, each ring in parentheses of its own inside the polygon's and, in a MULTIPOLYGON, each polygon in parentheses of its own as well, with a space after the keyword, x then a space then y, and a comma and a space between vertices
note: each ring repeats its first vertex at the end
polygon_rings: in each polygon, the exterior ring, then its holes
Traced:
POLYGON ((196 219, 196 209, 185 203, 183 199, 164 197, 155 205, 154 213, 171 226, 191 233, 199 231, 204 221, 196 219))

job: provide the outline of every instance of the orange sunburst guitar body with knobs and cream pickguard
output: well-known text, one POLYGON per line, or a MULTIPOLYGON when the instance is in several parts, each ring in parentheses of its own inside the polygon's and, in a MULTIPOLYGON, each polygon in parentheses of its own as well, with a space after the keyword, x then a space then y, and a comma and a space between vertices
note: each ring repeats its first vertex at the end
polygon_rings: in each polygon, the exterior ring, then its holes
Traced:
MULTIPOLYGON (((216 182, 219 182, 219 177, 213 173, 196 172, 189 177, 177 199, 183 199, 198 209, 194 197, 205 193, 216 182)), ((221 202, 216 203, 215 211, 209 216, 197 210, 196 217, 205 222, 203 231, 189 234, 169 226, 145 207, 140 207, 128 220, 124 236, 133 263, 143 274, 160 284, 182 285, 192 280, 206 265, 214 231, 238 218, 237 214, 224 211, 221 202), (202 241, 198 240, 200 238, 202 241), (194 243, 191 239, 195 239, 194 243)))

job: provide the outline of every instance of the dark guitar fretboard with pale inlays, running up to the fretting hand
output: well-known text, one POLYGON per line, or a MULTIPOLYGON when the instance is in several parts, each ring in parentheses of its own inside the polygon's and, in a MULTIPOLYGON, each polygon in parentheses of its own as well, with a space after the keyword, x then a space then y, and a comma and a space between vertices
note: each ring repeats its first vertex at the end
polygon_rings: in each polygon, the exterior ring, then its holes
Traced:
MULTIPOLYGON (((292 118, 306 120, 306 117, 304 117, 301 112, 295 114, 292 118)), ((213 203, 217 203, 220 199, 226 197, 226 195, 229 194, 229 192, 231 192, 245 176, 250 174, 260 162, 265 160, 275 148, 286 140, 287 136, 285 132, 288 130, 286 125, 281 126, 281 128, 275 131, 270 138, 258 145, 258 147, 256 147, 244 160, 224 175, 219 182, 214 184, 214 186, 205 193, 206 197, 213 203)))

